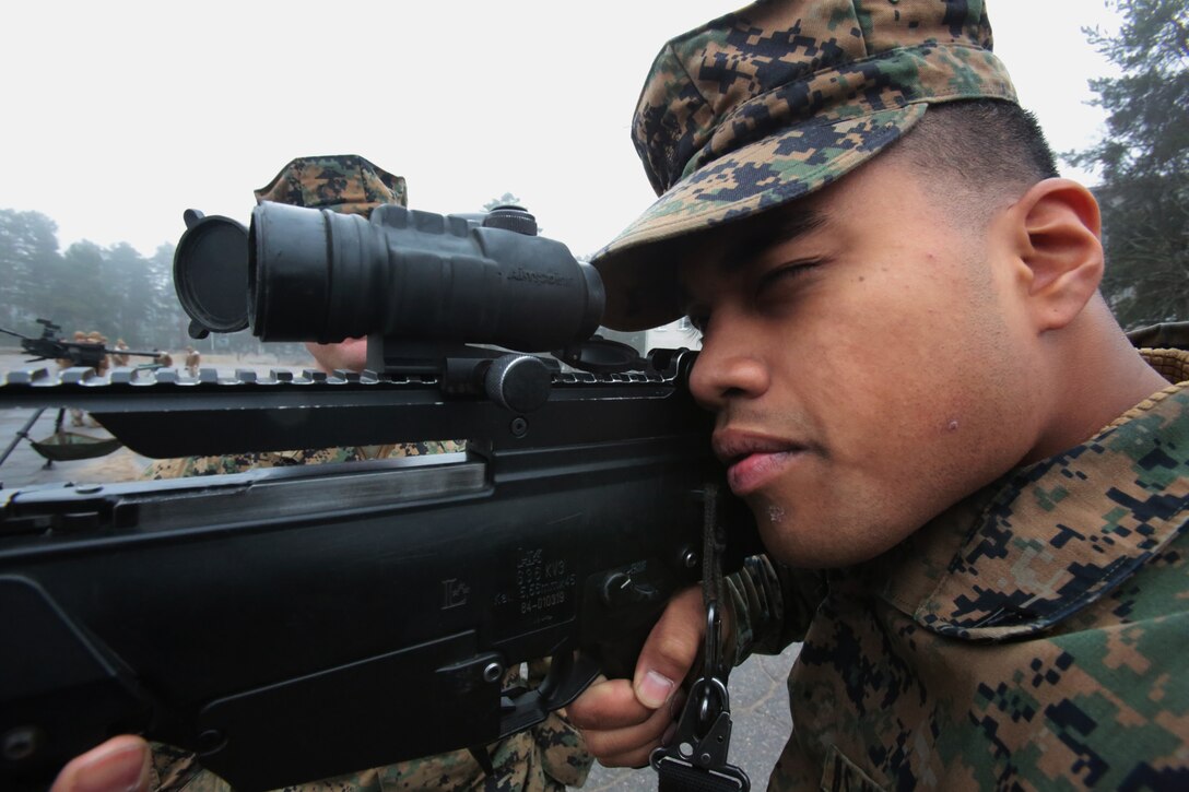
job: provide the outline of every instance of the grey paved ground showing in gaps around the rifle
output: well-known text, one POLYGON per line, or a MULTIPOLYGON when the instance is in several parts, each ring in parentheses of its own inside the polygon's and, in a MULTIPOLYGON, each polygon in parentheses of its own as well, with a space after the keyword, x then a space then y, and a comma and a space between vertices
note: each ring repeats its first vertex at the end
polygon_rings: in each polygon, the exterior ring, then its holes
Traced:
MULTIPOLYGON (((21 365, 19 358, 0 354, 0 370, 21 365)), ((244 365, 237 363, 235 365, 244 365)), ((262 369, 269 365, 260 364, 262 369)), ((231 366, 235 367, 235 366, 231 366)), ((0 455, 25 429, 32 410, 0 410, 0 455)), ((40 440, 54 433, 55 410, 46 410, 27 429, 29 436, 40 440)), ((96 438, 108 435, 103 429, 84 425, 70 426, 65 416, 65 428, 96 438)), ((8 458, 0 464, 0 486, 14 488, 54 482, 115 482, 137 478, 149 459, 121 448, 112 454, 86 461, 54 463, 45 467, 45 459, 37 454, 27 440, 20 440, 8 458)), ((767 785, 768 774, 788 737, 788 699, 785 679, 797 655, 798 646, 789 647, 780 656, 754 656, 735 670, 730 680, 731 736, 730 760, 747 772, 754 788, 767 785)), ((609 769, 596 765, 586 787, 594 792, 623 790, 636 792, 656 788, 656 774, 650 768, 609 769)))

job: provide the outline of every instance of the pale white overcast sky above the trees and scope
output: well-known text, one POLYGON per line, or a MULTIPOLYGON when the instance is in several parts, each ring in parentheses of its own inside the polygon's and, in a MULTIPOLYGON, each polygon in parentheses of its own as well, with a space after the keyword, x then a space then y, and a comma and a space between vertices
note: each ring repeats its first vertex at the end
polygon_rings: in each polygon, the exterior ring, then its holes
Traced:
MULTIPOLYGON (((62 246, 175 243, 188 207, 246 221, 291 158, 358 153, 410 206, 510 191, 575 254, 654 199, 629 140, 663 42, 740 2, 107 0, 5 2, 0 208, 62 246)), ((1053 147, 1096 139, 1081 27, 1103 0, 990 0, 995 50, 1053 147)), ((1065 175, 1093 183, 1093 175, 1065 175)))

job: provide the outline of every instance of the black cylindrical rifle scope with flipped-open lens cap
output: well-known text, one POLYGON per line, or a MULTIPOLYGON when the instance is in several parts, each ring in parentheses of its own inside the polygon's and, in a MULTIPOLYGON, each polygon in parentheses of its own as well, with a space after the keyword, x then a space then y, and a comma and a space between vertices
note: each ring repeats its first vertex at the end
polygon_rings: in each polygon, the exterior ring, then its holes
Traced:
POLYGON ((379 206, 365 219, 263 202, 249 228, 187 213, 174 259, 190 334, 251 327, 265 341, 382 335, 522 352, 580 344, 603 316, 598 272, 531 215, 379 206))

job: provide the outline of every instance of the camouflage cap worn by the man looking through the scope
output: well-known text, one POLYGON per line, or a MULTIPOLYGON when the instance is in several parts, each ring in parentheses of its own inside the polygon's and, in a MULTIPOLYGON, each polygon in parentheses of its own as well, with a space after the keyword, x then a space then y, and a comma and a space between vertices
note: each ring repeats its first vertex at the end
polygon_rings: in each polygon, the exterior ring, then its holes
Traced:
POLYGON ((660 196, 593 260, 604 323, 680 315, 659 245, 807 195, 897 140, 933 102, 1017 101, 982 0, 770 0, 668 42, 633 140, 660 196))

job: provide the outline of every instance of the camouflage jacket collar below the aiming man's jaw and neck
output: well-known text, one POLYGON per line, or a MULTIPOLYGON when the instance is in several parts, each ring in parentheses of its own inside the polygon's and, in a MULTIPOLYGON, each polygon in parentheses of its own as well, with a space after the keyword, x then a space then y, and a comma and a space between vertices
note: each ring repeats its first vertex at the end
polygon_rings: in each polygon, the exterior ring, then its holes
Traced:
POLYGON ((1096 602, 1183 533, 1189 353, 1145 357, 1179 384, 930 522, 875 562, 882 598, 942 635, 1030 635, 1096 602))

